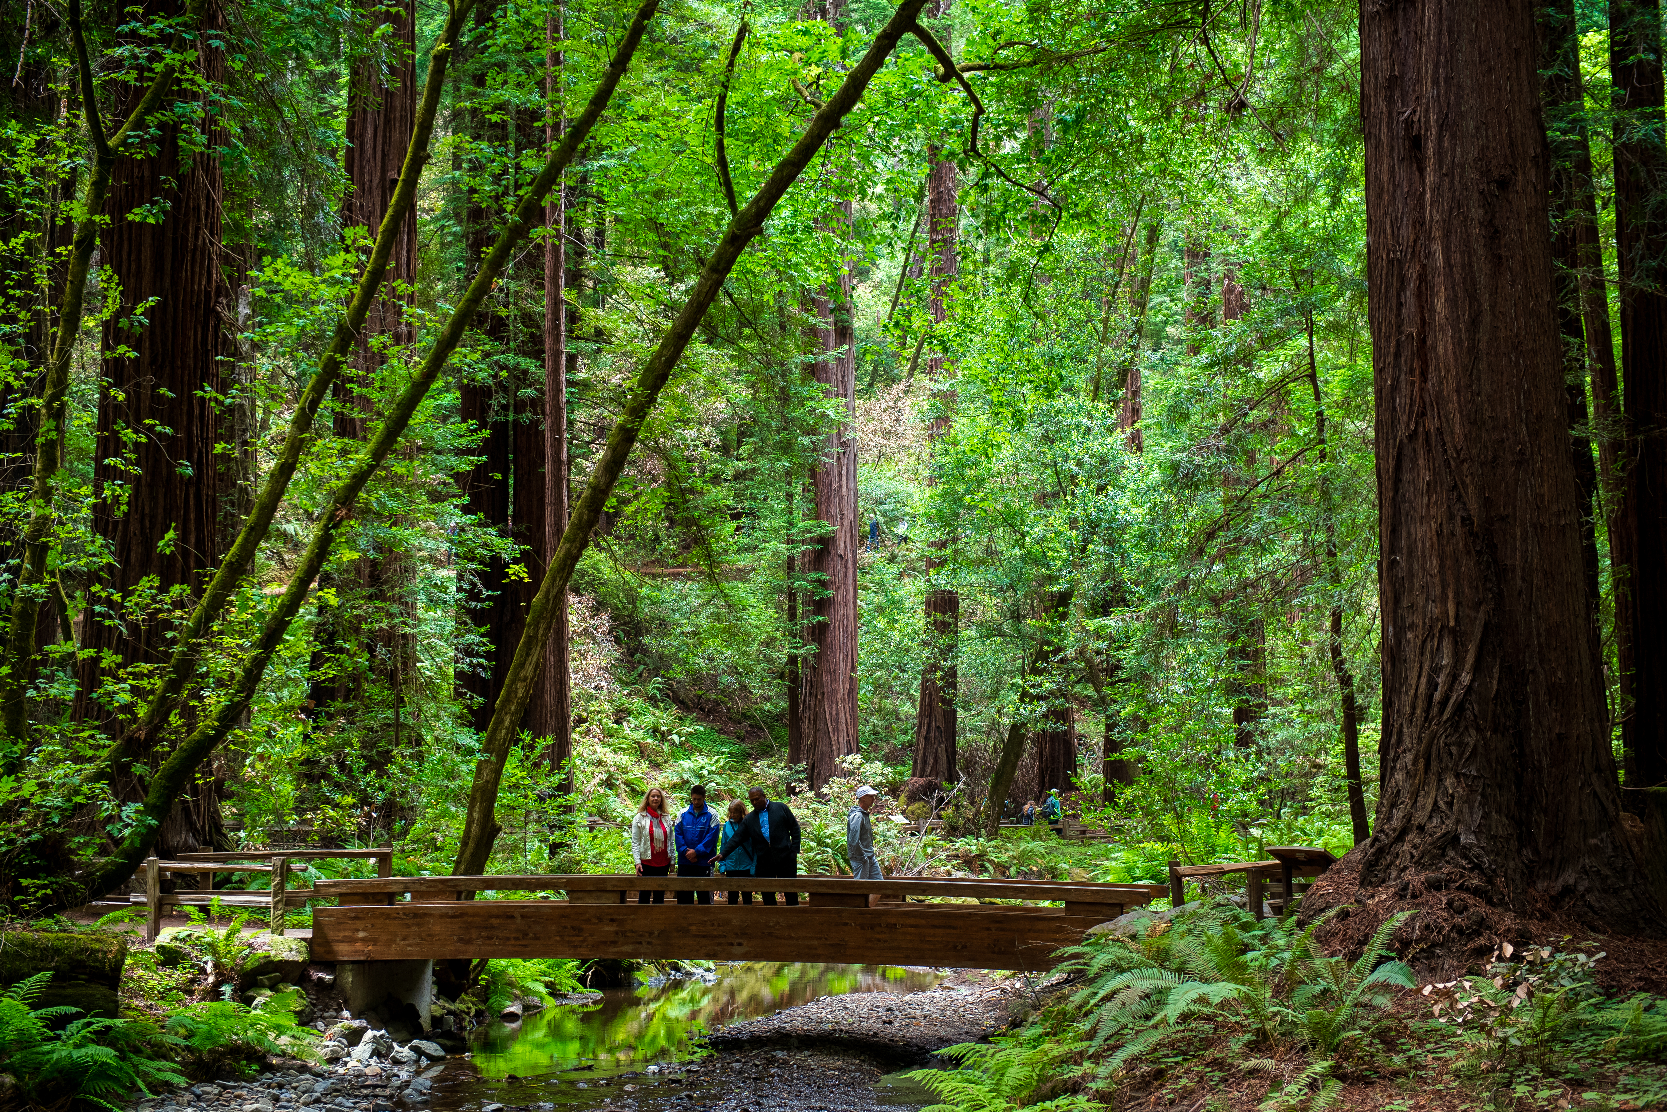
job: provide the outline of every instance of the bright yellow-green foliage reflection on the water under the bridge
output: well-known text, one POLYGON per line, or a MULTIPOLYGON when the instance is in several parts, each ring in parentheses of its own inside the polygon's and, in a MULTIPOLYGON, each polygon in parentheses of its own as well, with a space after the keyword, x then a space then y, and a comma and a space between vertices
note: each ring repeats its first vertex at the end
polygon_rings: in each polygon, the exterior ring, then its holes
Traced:
POLYGON ((518 1024, 490 1024, 470 1045, 483 1079, 535 1077, 592 1067, 595 1077, 687 1059, 690 1039, 817 997, 847 992, 922 992, 932 970, 892 965, 813 965, 778 962, 720 964, 715 984, 672 980, 640 989, 608 989, 598 1004, 553 1007, 518 1024))

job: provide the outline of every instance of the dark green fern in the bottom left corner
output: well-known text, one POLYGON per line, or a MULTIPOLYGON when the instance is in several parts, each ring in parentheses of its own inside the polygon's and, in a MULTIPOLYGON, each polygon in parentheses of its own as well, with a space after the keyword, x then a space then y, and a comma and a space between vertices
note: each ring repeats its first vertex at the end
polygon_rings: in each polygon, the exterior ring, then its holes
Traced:
POLYGON ((183 1085, 185 1075, 163 1055, 178 1040, 148 1020, 73 1019, 62 1030, 53 1020, 77 1015, 73 1007, 35 1007, 52 972, 40 972, 0 992, 0 1062, 17 1079, 15 1094, 28 1105, 63 1107, 83 1100, 118 1112, 135 1089, 183 1085))

